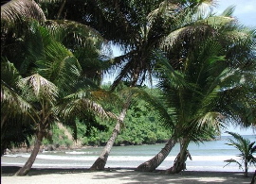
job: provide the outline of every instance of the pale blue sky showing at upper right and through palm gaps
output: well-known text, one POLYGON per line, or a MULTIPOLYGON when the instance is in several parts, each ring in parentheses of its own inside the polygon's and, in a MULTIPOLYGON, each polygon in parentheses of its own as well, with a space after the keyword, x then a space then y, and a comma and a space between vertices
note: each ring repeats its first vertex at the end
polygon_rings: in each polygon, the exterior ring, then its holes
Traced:
MULTIPOLYGON (((242 25, 247 25, 256 28, 256 0, 217 0, 215 2, 217 5, 216 8, 213 8, 213 11, 217 15, 222 13, 229 6, 235 6, 233 16, 239 21, 239 23, 242 25)), ((118 47, 113 49, 113 55, 120 55, 118 47)), ((105 77, 103 82, 113 81, 113 75, 105 77)), ((224 133, 227 130, 239 133, 241 135, 256 134, 256 131, 253 132, 251 128, 245 129, 241 128, 240 126, 229 125, 228 129, 224 129, 222 131, 222 135, 228 135, 224 133)))

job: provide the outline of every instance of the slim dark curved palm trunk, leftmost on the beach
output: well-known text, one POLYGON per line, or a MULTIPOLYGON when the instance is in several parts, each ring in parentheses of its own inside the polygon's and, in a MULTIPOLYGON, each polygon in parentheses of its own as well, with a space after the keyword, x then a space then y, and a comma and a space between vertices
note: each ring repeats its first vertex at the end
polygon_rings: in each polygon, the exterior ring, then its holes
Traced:
POLYGON ((25 163, 25 165, 21 169, 19 169, 19 171, 15 174, 15 176, 26 176, 27 175, 27 173, 30 171, 30 169, 37 157, 37 154, 39 152, 39 149, 40 149, 43 139, 44 139, 44 133, 42 131, 39 131, 37 134, 36 142, 35 142, 35 145, 34 145, 34 148, 32 150, 30 157, 27 159, 27 162, 25 163))

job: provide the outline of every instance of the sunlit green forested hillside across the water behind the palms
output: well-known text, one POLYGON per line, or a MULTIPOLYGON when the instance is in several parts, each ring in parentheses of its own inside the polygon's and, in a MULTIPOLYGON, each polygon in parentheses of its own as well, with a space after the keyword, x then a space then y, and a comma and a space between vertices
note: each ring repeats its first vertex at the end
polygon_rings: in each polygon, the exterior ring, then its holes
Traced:
MULTIPOLYGON (((156 97, 157 89, 146 88, 146 90, 156 97)), ((88 125, 90 125, 89 121, 90 120, 76 120, 77 144, 82 146, 104 145, 113 131, 115 122, 98 119, 97 121, 99 121, 101 126, 88 127, 88 125)), ((68 130, 69 134, 72 133, 71 128, 68 126, 65 126, 64 128, 68 130)), ((73 142, 70 139, 70 136, 66 135, 67 133, 64 131, 64 128, 54 125, 51 136, 43 142, 44 146, 53 148, 59 146, 74 146, 76 142, 73 142)), ((171 134, 172 129, 166 129, 161 125, 161 120, 157 111, 155 111, 153 107, 148 106, 148 104, 141 99, 136 104, 134 103, 131 106, 131 109, 129 109, 115 145, 166 142, 171 134)))

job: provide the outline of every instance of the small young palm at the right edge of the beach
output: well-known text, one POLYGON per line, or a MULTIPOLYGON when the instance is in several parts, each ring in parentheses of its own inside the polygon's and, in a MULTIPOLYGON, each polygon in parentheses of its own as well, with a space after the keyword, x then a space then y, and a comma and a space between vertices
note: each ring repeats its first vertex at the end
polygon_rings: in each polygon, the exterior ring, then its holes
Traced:
MULTIPOLYGON (((244 163, 244 172, 245 176, 248 176, 248 167, 250 165, 256 166, 256 158, 253 156, 253 154, 256 153, 256 145, 255 142, 250 142, 249 140, 243 138, 241 135, 234 133, 234 132, 227 132, 229 135, 233 136, 235 141, 229 139, 230 143, 227 143, 228 145, 234 146, 236 149, 240 151, 240 154, 238 157, 241 159, 242 162, 239 162, 238 160, 235 159, 227 159, 225 160, 228 162, 227 165, 230 163, 236 163, 239 165, 240 169, 243 169, 243 163, 244 163)), ((227 166, 225 165, 225 166, 227 166)))

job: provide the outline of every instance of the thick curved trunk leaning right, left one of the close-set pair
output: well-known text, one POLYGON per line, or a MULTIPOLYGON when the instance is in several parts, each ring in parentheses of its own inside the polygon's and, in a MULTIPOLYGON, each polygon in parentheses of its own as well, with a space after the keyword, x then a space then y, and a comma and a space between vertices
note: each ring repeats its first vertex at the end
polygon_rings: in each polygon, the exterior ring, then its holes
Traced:
POLYGON ((164 148, 162 148, 162 150, 153 159, 149 159, 148 161, 140 164, 136 170, 142 172, 155 171, 155 169, 163 162, 163 160, 167 158, 175 143, 176 139, 172 137, 168 142, 166 142, 164 148))

